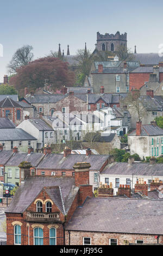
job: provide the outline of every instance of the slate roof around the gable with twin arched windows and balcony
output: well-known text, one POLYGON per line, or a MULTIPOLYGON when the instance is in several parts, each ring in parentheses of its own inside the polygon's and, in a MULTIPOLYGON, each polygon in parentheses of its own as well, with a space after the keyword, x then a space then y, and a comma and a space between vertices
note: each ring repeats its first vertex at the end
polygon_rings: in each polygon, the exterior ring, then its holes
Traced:
POLYGON ((79 188, 74 186, 74 178, 58 178, 55 176, 28 176, 24 183, 18 187, 15 196, 12 198, 5 212, 24 212, 32 204, 43 187, 52 196, 52 199, 61 210, 65 206, 65 213, 67 214, 79 188), (58 188, 54 189, 54 186, 60 187, 61 193, 59 193, 58 188), (52 190, 48 190, 47 187, 51 187, 52 190), (62 206, 59 198, 61 196, 64 202, 62 206))

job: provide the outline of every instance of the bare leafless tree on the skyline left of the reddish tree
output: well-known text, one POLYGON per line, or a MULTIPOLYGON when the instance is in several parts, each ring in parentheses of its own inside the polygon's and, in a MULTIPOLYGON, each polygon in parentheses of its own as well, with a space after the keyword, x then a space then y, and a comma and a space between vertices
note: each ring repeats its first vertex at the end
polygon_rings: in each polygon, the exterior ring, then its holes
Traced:
POLYGON ((16 70, 21 66, 26 66, 34 58, 32 53, 33 47, 31 45, 24 45, 18 48, 12 56, 10 63, 7 65, 9 74, 16 73, 16 70))

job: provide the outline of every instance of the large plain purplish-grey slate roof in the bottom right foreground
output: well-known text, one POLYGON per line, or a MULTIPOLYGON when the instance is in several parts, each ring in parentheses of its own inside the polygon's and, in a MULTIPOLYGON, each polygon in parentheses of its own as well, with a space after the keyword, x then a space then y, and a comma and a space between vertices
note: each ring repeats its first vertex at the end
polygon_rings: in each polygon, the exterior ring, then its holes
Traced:
POLYGON ((87 198, 66 230, 163 234, 163 200, 87 198))

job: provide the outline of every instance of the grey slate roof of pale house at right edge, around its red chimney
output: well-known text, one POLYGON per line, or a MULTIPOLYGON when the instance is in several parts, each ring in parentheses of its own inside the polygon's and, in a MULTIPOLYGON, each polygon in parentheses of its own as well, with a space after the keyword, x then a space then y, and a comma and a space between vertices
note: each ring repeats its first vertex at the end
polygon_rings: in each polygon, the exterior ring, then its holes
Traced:
MULTIPOLYGON (((140 136, 159 136, 163 135, 163 129, 159 126, 154 126, 151 124, 146 124, 141 126, 140 136)), ((129 133, 128 136, 136 136, 136 130, 129 133)))

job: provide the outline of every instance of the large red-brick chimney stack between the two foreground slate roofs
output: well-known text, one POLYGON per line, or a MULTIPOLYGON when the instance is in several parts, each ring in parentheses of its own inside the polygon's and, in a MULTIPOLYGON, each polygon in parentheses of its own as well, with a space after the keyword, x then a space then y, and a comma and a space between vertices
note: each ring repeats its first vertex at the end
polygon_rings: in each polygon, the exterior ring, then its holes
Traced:
POLYGON ((89 171, 91 164, 87 162, 75 163, 75 186, 79 187, 78 205, 82 205, 86 197, 92 197, 92 185, 89 184, 89 171))

